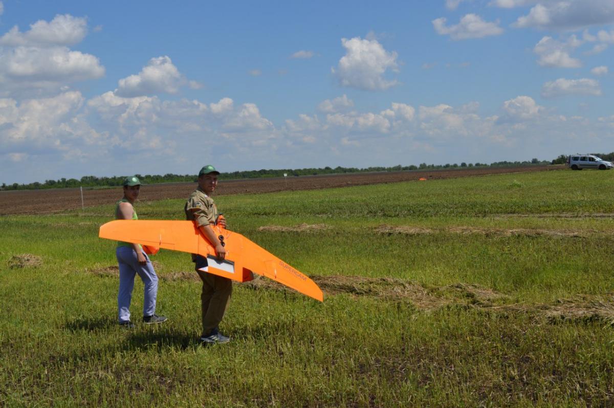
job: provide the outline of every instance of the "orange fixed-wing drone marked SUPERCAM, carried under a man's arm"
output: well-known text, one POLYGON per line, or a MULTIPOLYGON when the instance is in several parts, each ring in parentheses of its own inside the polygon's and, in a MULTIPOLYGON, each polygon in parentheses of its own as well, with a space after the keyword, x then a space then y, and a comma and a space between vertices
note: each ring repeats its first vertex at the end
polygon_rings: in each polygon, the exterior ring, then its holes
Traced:
POLYGON ((313 280, 280 260, 264 248, 230 229, 212 226, 225 244, 226 259, 219 260, 216 250, 193 221, 115 220, 100 227, 98 236, 132 242, 148 247, 198 253, 209 263, 208 272, 238 282, 254 279, 252 272, 276 280, 289 288, 324 301, 322 290, 313 280))

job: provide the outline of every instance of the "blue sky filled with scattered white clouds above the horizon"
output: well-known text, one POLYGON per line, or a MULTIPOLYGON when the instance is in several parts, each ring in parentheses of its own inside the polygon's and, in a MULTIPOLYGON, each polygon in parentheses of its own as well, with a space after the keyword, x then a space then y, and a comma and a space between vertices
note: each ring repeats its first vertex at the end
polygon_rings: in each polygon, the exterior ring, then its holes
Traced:
POLYGON ((0 183, 614 151, 614 1, 0 0, 0 183))

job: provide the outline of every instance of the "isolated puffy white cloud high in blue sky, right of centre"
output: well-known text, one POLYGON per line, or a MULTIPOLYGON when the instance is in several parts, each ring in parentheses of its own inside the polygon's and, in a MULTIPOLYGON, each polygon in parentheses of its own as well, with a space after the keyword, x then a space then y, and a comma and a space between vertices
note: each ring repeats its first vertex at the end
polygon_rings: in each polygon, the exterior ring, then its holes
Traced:
POLYGON ((341 39, 346 55, 339 65, 332 69, 341 86, 360 90, 386 90, 398 84, 396 80, 384 78, 386 71, 398 71, 397 53, 387 52, 377 40, 341 39))

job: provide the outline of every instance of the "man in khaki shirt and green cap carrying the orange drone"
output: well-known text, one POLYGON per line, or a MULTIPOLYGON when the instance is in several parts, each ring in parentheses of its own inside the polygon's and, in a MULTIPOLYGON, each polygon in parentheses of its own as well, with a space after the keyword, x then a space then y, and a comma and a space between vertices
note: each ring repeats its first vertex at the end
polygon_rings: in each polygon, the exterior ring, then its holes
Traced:
MULTIPOLYGON (((198 188, 188 197, 184 210, 186 219, 198 225, 198 229, 216 249, 217 258, 223 260, 226 250, 211 228, 216 223, 223 227, 226 226, 226 221, 218 214, 216 204, 211 198, 211 193, 216 189, 219 174, 219 171, 210 164, 200 170, 198 188)), ((206 257, 192 254, 192 261, 195 263, 198 276, 203 281, 203 293, 201 294, 203 334, 200 341, 203 344, 227 343, 230 337, 220 333, 218 325, 230 304, 232 281, 222 276, 209 274, 206 257)))

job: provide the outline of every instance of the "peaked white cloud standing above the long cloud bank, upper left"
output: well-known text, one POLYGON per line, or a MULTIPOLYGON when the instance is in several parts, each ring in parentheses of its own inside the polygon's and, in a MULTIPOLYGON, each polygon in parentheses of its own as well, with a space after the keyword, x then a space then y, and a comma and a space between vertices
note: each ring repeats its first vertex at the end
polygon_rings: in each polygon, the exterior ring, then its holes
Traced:
POLYGON ((152 58, 136 75, 119 80, 115 94, 126 98, 156 93, 177 93, 187 80, 168 56, 152 58))

